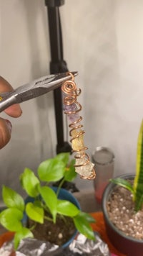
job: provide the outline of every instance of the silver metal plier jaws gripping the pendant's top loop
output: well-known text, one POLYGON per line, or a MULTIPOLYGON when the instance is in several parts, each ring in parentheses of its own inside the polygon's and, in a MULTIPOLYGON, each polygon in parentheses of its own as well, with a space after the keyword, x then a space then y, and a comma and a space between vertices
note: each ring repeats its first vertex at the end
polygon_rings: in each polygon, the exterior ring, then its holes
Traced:
POLYGON ((19 86, 14 91, 0 93, 0 112, 13 104, 34 99, 49 91, 59 88, 64 81, 77 76, 77 72, 57 73, 38 78, 24 86, 19 86))

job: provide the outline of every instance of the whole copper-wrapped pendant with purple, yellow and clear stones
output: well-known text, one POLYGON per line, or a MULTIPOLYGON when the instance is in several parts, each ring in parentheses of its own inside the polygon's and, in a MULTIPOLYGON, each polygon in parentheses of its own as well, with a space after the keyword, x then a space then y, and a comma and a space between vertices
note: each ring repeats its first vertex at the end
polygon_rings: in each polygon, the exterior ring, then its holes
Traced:
POLYGON ((71 147, 75 153, 75 170, 81 178, 92 180, 95 178, 94 164, 90 161, 89 155, 85 152, 88 148, 84 146, 84 129, 82 129, 82 116, 79 115, 82 106, 77 101, 77 96, 81 89, 77 88, 74 82, 74 76, 70 73, 72 79, 66 81, 61 86, 63 91, 64 113, 69 120, 69 136, 71 137, 71 147))

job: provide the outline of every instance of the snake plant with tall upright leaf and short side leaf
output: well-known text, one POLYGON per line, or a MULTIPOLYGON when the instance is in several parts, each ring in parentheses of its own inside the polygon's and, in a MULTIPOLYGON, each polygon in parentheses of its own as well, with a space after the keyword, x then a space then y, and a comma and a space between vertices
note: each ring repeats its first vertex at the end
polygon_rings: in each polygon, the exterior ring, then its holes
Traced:
POLYGON ((143 204, 143 121, 139 129, 139 136, 137 140, 137 161, 136 173, 133 184, 128 180, 122 178, 115 178, 111 180, 119 186, 127 188, 133 195, 134 210, 139 211, 143 204))

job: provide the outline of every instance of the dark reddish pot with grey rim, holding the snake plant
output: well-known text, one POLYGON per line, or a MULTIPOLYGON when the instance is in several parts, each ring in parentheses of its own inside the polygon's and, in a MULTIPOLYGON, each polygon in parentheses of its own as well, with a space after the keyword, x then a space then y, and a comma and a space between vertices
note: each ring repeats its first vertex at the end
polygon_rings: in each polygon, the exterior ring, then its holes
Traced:
MULTIPOLYGON (((120 178, 133 180, 134 174, 121 175, 120 178)), ((107 188, 105 188, 102 198, 102 211, 104 214, 107 235, 109 237, 110 242, 112 242, 114 247, 117 248, 119 252, 122 252, 127 256, 142 256, 143 240, 134 239, 132 237, 126 236, 126 234, 119 231, 119 229, 117 229, 117 227, 115 227, 112 221, 110 221, 109 219, 109 215, 107 212, 107 201, 116 186, 117 185, 114 183, 109 183, 109 185, 107 185, 107 188)))

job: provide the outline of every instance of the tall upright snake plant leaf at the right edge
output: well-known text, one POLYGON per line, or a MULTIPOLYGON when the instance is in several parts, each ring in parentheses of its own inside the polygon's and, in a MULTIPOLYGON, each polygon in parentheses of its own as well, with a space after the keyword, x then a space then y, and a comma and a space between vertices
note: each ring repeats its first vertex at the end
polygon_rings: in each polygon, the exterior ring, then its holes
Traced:
POLYGON ((138 211, 143 203, 143 121, 139 129, 137 140, 137 161, 136 175, 134 178, 134 203, 135 210, 138 211))

